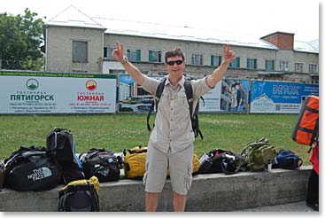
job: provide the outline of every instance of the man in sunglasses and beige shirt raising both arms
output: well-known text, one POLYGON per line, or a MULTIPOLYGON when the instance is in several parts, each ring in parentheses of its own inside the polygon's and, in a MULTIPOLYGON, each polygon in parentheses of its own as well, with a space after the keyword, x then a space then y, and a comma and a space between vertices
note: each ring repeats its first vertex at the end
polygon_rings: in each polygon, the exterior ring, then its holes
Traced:
MULTIPOLYGON (((156 95, 159 81, 152 79, 128 62, 124 56, 124 45, 117 43, 112 51, 112 58, 119 61, 132 76, 135 82, 156 95)), ((192 81, 193 107, 199 97, 212 90, 226 73, 228 65, 235 59, 235 52, 229 46, 223 46, 221 66, 197 81, 192 81)), ((166 171, 169 169, 173 188, 173 207, 175 212, 183 212, 187 193, 192 182, 193 142, 195 139, 190 122, 189 105, 184 90, 185 57, 180 49, 167 51, 165 66, 168 77, 165 89, 159 100, 155 126, 152 129, 147 152, 146 173, 143 176, 145 185, 145 210, 154 212, 159 204, 159 193, 166 182, 166 171)))

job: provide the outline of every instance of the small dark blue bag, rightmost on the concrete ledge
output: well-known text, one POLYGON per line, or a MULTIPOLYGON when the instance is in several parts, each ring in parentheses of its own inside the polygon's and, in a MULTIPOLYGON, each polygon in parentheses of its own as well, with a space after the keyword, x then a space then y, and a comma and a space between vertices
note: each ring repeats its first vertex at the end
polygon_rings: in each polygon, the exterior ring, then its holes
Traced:
POLYGON ((303 160, 289 149, 280 149, 276 152, 275 158, 272 160, 272 168, 295 169, 303 164, 303 160))

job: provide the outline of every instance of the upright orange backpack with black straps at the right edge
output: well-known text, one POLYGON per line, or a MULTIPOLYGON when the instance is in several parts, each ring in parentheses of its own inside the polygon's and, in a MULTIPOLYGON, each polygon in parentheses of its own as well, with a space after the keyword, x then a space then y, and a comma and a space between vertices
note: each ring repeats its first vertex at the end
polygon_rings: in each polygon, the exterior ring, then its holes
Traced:
POLYGON ((301 105, 291 138, 298 144, 312 145, 318 140, 319 97, 307 96, 301 105))

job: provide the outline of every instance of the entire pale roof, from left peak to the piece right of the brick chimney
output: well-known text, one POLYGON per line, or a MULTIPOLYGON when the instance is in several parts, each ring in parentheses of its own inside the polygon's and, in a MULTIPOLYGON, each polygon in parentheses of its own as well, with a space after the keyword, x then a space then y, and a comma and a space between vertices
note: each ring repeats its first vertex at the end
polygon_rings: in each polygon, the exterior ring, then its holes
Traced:
MULTIPOLYGON (((256 35, 231 35, 206 28, 179 27, 134 20, 89 17, 73 5, 70 5, 63 12, 58 13, 54 18, 49 19, 45 25, 102 28, 105 30, 105 34, 135 35, 199 43, 228 43, 236 46, 279 50, 274 44, 268 43, 256 35)), ((318 49, 316 50, 315 47, 309 43, 304 44, 304 42, 298 42, 298 47, 296 46, 296 41, 294 44, 295 51, 318 53, 318 49)))

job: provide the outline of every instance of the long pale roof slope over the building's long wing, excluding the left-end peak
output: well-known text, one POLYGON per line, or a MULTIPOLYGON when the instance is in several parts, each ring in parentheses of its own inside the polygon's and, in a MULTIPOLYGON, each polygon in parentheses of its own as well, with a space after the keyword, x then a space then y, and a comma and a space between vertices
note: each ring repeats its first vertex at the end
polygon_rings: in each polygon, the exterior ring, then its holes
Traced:
POLYGON ((106 34, 137 35, 163 39, 193 41, 201 43, 220 43, 278 50, 278 48, 252 35, 229 35, 213 29, 169 26, 150 22, 122 19, 93 18, 107 27, 106 34))

